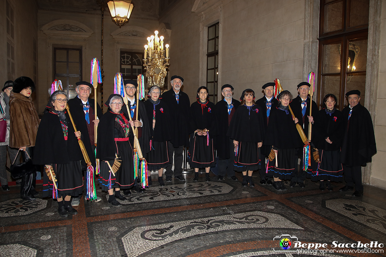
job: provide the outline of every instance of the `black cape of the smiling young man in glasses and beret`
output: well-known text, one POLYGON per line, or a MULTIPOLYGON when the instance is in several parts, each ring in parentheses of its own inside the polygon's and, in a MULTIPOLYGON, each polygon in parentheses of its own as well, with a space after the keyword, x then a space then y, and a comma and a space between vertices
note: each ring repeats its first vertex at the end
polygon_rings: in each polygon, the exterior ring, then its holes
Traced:
MULTIPOLYGON (((138 139, 139 145, 141 146, 142 154, 145 156, 148 152, 150 152, 150 130, 152 127, 150 127, 149 120, 147 119, 146 114, 146 108, 143 101, 137 101, 137 98, 135 98, 135 103, 137 103, 138 108, 136 110, 139 110, 138 113, 138 120, 142 119, 142 135, 138 139)), ((130 101, 127 103, 130 104, 130 101)), ((110 108, 108 105, 105 104, 108 108, 110 108)), ((129 112, 127 111, 126 105, 122 106, 122 111, 125 113, 126 118, 129 119, 129 112)))

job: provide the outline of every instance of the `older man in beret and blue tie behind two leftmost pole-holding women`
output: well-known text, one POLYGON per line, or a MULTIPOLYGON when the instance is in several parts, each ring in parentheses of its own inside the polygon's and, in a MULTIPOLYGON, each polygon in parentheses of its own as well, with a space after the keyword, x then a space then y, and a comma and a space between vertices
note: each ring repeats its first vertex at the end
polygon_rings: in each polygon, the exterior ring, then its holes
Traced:
MULTIPOLYGON (((95 164, 95 142, 94 142, 94 125, 98 126, 99 118, 95 120, 95 109, 97 110, 97 117, 102 116, 102 109, 97 103, 95 108, 94 99, 89 98, 93 85, 87 81, 76 82, 75 91, 78 94, 73 99, 68 100, 68 107, 74 119, 76 128, 82 134, 82 141, 85 145, 86 152, 90 158, 93 167, 95 164)), ((78 206, 80 197, 73 197, 71 206, 78 206)), ((97 200, 102 199, 97 196, 97 200)))

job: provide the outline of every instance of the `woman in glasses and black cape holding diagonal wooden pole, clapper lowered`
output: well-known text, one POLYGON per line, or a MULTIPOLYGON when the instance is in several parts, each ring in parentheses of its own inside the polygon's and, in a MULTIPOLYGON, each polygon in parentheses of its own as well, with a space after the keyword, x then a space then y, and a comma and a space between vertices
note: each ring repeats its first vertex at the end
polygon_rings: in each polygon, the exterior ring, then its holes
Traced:
POLYGON ((275 159, 269 162, 268 169, 273 169, 273 187, 276 191, 285 191, 282 180, 291 179, 295 165, 296 148, 303 147, 301 137, 296 130, 298 119, 292 117, 289 103, 293 96, 288 90, 282 91, 279 96, 278 106, 271 108, 269 123, 264 145, 273 146, 275 159))

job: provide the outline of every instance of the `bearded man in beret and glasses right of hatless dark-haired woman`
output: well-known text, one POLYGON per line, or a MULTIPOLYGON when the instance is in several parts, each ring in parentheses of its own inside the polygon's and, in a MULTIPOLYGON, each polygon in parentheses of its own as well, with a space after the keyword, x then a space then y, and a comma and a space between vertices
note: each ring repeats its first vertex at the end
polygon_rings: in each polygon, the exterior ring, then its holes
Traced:
POLYGON ((227 136, 230 120, 234 115, 236 108, 239 107, 240 102, 233 99, 233 86, 225 84, 221 87, 221 94, 224 96, 215 105, 215 115, 218 122, 218 136, 214 139, 214 145, 217 149, 218 155, 218 176, 217 180, 224 180, 225 174, 228 178, 237 181, 234 171, 234 145, 233 139, 227 136))

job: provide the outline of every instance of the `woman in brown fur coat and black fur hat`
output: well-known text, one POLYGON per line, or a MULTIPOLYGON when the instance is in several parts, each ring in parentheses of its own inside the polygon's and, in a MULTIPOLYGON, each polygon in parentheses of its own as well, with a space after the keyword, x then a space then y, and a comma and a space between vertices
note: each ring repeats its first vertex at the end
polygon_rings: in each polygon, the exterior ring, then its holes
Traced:
MULTIPOLYGON (((22 152, 25 168, 21 175, 20 197, 24 200, 35 200, 39 194, 35 190, 36 169, 32 165, 32 148, 35 146, 39 117, 30 98, 35 90, 35 83, 28 77, 15 79, 13 90, 9 96, 10 136, 9 147, 22 152), (30 164, 30 165, 29 165, 30 164)), ((14 160, 11 160, 14 161, 14 160)), ((13 174, 14 176, 14 174, 13 174)))

